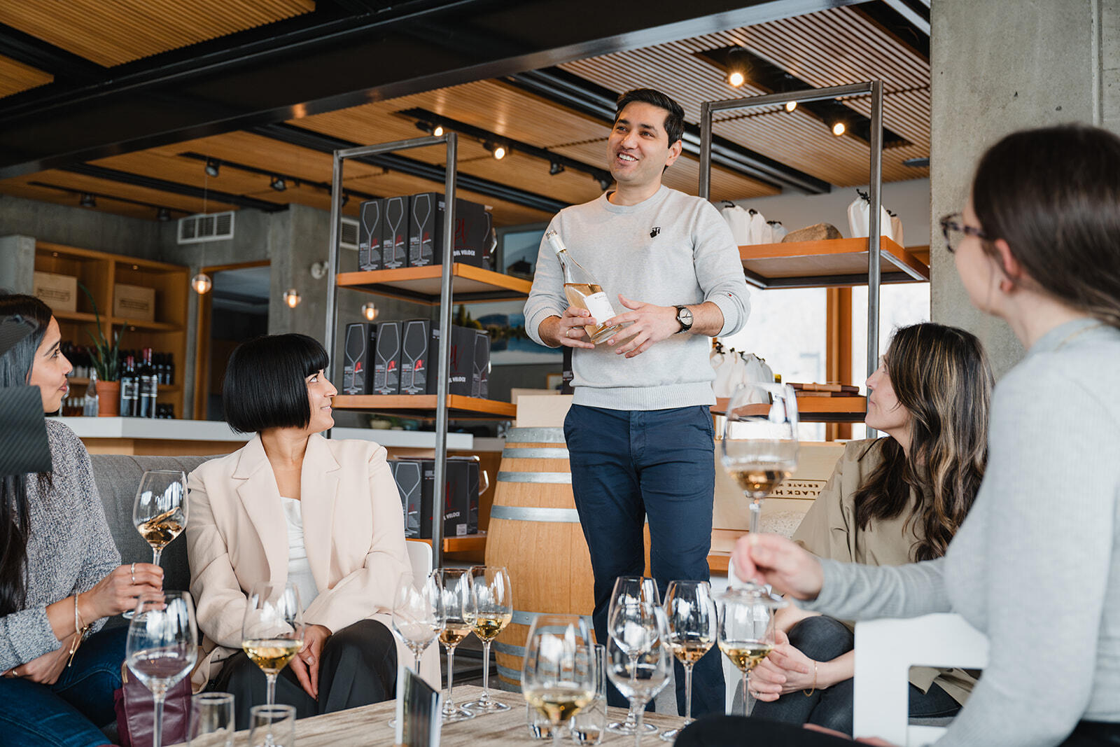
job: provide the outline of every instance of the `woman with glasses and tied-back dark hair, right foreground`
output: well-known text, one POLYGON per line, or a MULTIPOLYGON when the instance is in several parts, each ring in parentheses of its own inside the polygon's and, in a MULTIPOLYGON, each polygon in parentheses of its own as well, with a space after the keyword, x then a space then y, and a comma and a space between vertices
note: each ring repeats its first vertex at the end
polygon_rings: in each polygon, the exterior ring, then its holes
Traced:
MULTIPOLYGON (((840 563, 759 534, 736 570, 842 619, 954 611, 984 633, 989 664, 940 747, 1120 744, 1120 138, 1007 136, 942 230, 972 305, 1026 348, 992 392, 988 467, 945 557, 840 563)), ((842 744, 732 723, 676 744, 842 744)))

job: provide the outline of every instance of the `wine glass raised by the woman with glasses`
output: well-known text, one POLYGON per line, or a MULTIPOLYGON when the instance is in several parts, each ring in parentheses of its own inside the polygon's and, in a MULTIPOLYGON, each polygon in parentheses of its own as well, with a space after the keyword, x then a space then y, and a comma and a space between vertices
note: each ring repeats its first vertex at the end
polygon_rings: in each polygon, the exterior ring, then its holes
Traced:
MULTIPOLYGON (((724 469, 750 499, 750 533, 758 532, 763 498, 797 468, 797 396, 785 384, 736 387, 727 405, 720 443, 724 469)), ((762 594, 748 582, 744 594, 762 594)))

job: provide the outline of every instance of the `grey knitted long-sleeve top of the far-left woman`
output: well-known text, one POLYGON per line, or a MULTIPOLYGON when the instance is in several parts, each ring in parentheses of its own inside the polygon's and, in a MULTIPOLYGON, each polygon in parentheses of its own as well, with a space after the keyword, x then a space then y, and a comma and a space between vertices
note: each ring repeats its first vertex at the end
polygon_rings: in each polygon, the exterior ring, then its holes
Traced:
MULTIPOLYGON (((37 476, 28 476, 27 601, 24 609, 0 617, 0 671, 58 648, 47 605, 93 588, 121 562, 85 446, 50 419, 47 439, 54 471, 45 492, 37 476)), ((96 620, 93 632, 104 624, 96 620)))

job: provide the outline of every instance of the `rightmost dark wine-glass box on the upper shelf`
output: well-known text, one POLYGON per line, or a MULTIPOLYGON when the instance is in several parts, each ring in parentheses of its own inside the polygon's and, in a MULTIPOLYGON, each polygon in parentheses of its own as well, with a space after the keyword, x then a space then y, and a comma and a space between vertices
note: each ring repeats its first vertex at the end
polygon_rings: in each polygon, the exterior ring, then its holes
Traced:
MULTIPOLYGON (((444 262, 444 195, 423 192, 412 195, 409 218, 409 267, 427 267, 444 262)), ((451 255, 455 262, 488 267, 491 252, 491 214, 477 203, 455 200, 455 235, 451 255)))

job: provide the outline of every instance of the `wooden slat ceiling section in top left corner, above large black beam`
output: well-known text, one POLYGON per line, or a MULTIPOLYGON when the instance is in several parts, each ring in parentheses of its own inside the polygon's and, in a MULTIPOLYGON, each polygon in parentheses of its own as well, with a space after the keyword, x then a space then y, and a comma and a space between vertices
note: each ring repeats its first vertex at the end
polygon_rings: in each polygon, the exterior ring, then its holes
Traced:
POLYGON ((19 0, 0 24, 105 67, 315 10, 314 0, 19 0))

